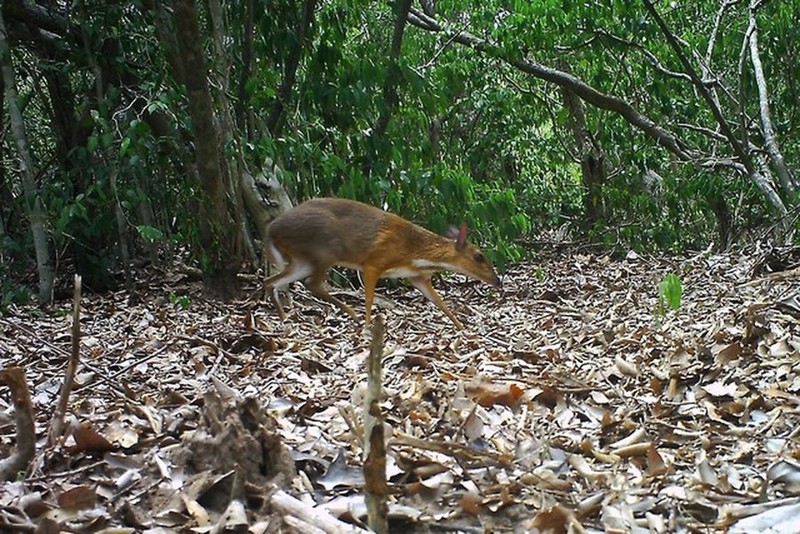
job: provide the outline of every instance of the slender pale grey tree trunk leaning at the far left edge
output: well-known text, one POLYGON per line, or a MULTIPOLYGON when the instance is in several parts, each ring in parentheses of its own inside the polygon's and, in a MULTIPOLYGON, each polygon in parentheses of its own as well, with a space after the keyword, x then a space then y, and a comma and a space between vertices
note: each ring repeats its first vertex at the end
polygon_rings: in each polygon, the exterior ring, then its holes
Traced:
POLYGON ((22 189, 25 193, 25 207, 30 219, 33 246, 36 251, 36 264, 39 271, 39 304, 46 304, 52 299, 53 281, 55 279, 55 271, 50 259, 50 242, 47 237, 47 216, 36 187, 36 173, 33 170, 33 160, 28 150, 25 123, 17 104, 14 68, 11 65, 11 50, 8 46, 2 9, 0 9, 0 62, 2 62, 3 85, 5 86, 5 97, 8 102, 11 130, 19 155, 19 171, 22 176, 22 189))

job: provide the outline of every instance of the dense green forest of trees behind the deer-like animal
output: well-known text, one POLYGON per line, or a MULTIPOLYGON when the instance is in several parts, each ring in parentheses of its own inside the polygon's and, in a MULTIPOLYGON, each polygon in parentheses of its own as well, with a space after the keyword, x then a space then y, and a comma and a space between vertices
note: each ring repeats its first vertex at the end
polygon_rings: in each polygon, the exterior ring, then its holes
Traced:
POLYGON ((39 0, 1 14, 3 304, 37 284, 49 302, 75 271, 102 291, 186 250, 229 294, 258 265, 253 183, 276 206, 285 190, 437 231, 467 222, 501 266, 548 232, 679 252, 798 228, 793 1, 39 0))

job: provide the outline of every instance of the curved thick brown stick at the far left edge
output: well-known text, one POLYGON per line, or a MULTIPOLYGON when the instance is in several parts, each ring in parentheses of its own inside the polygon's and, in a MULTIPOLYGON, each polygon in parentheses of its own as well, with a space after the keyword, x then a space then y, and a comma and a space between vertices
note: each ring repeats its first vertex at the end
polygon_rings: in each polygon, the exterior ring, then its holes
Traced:
POLYGON ((17 423, 17 451, 0 460, 0 480, 11 480, 16 478, 17 473, 27 469, 28 462, 36 452, 36 429, 25 371, 16 366, 3 370, 0 372, 0 384, 6 384, 11 390, 14 419, 17 423))

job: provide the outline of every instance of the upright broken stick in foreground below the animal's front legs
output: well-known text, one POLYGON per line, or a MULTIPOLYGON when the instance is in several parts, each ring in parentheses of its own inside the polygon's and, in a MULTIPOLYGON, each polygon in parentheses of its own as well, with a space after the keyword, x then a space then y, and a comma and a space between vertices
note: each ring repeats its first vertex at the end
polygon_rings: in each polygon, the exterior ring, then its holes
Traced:
POLYGON ((383 316, 375 318, 372 344, 367 359, 367 394, 364 399, 364 481, 367 523, 378 534, 389 532, 389 506, 386 503, 386 440, 384 438, 381 397, 381 358, 383 357, 383 316))

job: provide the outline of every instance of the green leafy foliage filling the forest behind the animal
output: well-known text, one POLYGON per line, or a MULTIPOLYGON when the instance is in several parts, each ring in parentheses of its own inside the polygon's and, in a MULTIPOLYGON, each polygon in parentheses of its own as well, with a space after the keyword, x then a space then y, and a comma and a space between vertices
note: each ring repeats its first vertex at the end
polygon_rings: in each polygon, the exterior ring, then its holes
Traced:
MULTIPOLYGON (((237 103, 244 96, 245 112, 252 115, 247 123, 252 135, 244 133, 244 124, 223 132, 228 161, 238 161, 241 146, 251 168, 265 158, 279 162, 286 171, 284 183, 298 200, 356 198, 437 232, 465 222, 470 239, 501 269, 526 257, 521 245, 526 237, 551 229, 609 247, 679 251, 705 248, 709 241, 725 244, 774 219, 763 194, 747 179, 730 170, 677 162, 618 114, 586 105, 586 129, 605 158, 607 176, 590 204, 600 219, 587 228, 587 187, 564 95, 498 56, 529 58, 569 72, 619 96, 656 124, 674 128, 687 150, 732 158, 719 136, 709 135, 717 125, 696 89, 669 74, 683 67, 641 3, 439 2, 441 24, 486 38, 496 50, 482 55, 444 35, 408 26, 396 71, 387 62, 391 3, 318 3, 281 128, 267 132, 263 124, 302 41, 303 4, 255 2, 255 60, 248 72, 240 61, 248 3, 226 4, 229 67, 210 64, 213 84, 227 76, 226 95, 237 103), (378 135, 375 125, 387 111, 389 72, 395 73, 390 81, 398 105, 386 132, 378 135), (644 184, 648 170, 662 177, 658 188, 644 184)), ((718 4, 657 7, 689 55, 704 57, 718 4)), ((798 56, 800 24, 791 7, 762 3, 758 23, 773 121, 797 175, 800 144, 792 141, 800 130, 796 62, 777 60, 798 56)), ((733 120, 738 110, 732 101, 739 92, 745 116, 759 113, 753 80, 740 78, 738 68, 747 9, 743 3, 728 6, 709 68, 719 80, 714 87, 736 137, 747 134, 758 142, 757 120, 745 125, 752 132, 738 131, 733 120)), ((207 31, 202 8, 201 16, 207 31)), ((155 17, 139 4, 84 2, 70 13, 81 38, 57 36, 55 59, 42 61, 32 47, 13 51, 16 64, 30 71, 19 91, 34 159, 52 162, 37 178, 58 263, 73 260, 93 288, 113 282, 107 277, 118 262, 120 232, 134 254, 146 245, 192 247, 199 241, 200 187, 192 180, 186 99, 159 41, 155 17), (75 94, 60 100, 54 92, 48 100, 49 87, 58 80, 75 94), (116 206, 123 228, 118 228, 116 206)), ((212 50, 206 37, 204 45, 212 50)), ((3 149, 10 160, 13 147, 7 138, 3 149)), ((15 180, 10 177, 14 187, 15 180)), ((21 211, 21 202, 13 204, 9 209, 21 211)), ((15 272, 34 261, 24 230, 13 230, 3 251, 15 259, 15 272)), ((202 256, 197 260, 213 263, 202 256)))

